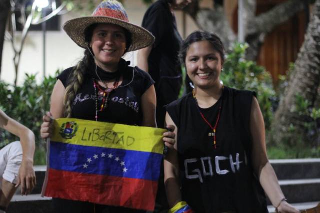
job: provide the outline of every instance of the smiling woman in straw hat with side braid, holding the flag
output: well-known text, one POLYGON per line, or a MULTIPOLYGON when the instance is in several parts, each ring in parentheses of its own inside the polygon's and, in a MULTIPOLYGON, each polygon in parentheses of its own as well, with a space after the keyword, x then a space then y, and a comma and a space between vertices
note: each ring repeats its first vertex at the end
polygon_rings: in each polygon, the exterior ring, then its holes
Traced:
MULTIPOLYGON (((154 81, 121 58, 126 52, 152 44, 154 37, 129 23, 116 0, 102 1, 91 16, 68 20, 63 29, 85 49, 84 57, 57 76, 50 112, 43 116, 41 137, 50 135, 50 117, 156 127, 154 81)), ((173 138, 174 133, 164 133, 164 144, 172 147, 173 138)), ((53 206, 59 213, 139 212, 54 198, 53 206)))

